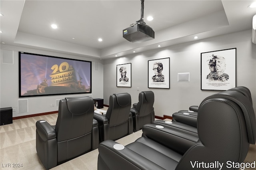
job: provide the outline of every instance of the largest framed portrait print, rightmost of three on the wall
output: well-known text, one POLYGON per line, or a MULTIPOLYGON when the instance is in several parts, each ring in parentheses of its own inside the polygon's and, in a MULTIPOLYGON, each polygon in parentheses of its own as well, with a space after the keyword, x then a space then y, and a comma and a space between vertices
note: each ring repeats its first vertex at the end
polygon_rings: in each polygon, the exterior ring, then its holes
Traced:
POLYGON ((201 90, 236 87, 236 48, 201 53, 201 90))

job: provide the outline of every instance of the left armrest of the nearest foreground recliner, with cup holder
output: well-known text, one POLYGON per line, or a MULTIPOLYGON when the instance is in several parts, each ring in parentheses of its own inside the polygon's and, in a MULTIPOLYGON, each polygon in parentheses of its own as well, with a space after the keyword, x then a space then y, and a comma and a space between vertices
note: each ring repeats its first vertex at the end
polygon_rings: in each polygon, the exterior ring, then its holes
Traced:
MULTIPOLYGON (((126 146, 122 150, 116 150, 113 140, 105 140, 99 145, 98 170, 122 169, 122 170, 164 170, 161 166, 130 150, 126 146)), ((119 144, 120 145, 120 144, 119 144)))

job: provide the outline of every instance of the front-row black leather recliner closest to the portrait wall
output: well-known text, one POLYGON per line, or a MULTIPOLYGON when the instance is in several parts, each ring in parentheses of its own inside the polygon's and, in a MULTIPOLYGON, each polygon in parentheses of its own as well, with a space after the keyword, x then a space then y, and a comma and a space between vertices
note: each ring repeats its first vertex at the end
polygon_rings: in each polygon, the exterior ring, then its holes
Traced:
POLYGON ((153 91, 142 91, 139 94, 139 102, 133 104, 131 113, 133 117, 133 131, 140 130, 143 125, 155 120, 153 91))

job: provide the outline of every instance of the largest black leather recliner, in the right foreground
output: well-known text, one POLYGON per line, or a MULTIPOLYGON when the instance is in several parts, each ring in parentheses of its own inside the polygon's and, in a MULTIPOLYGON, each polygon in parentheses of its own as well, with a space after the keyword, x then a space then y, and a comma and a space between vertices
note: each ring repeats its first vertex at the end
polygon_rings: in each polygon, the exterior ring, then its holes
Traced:
POLYGON ((255 144, 253 119, 255 117, 248 117, 246 105, 239 99, 209 97, 202 101, 198 110, 199 140, 184 154, 179 151, 184 138, 163 132, 166 127, 160 126, 158 130, 157 125, 145 125, 144 135, 131 144, 122 146, 112 140, 100 143, 98 170, 189 170, 198 168, 203 162, 219 162, 222 169, 237 169, 227 168, 227 165, 228 162, 243 162, 250 143, 255 144), (156 142, 156 138, 162 143, 156 142), (166 139, 175 142, 169 144, 166 139))

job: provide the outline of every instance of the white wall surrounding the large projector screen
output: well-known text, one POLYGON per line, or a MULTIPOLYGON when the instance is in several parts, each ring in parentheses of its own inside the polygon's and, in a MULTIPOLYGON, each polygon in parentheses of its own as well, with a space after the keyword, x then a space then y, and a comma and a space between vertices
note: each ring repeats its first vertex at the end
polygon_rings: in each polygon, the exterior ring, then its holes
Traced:
POLYGON ((39 51, 22 47, 14 47, 9 45, 1 45, 1 62, 0 62, 0 107, 12 107, 13 117, 24 115, 32 115, 37 113, 46 113, 58 110, 56 100, 64 99, 65 97, 89 95, 93 98, 103 98, 103 64, 102 60, 92 59, 62 53, 52 53, 49 51, 39 51), (13 64, 2 63, 2 49, 13 50, 13 64), (42 55, 52 55, 56 57, 65 57, 72 59, 80 59, 92 61, 92 93, 78 95, 54 95, 44 97, 27 97, 19 98, 19 61, 18 51, 37 53, 42 55), (98 64, 98 71, 94 70, 94 63, 98 64), (28 99, 28 113, 18 113, 18 100, 28 99), (50 107, 53 104, 54 107, 50 107))

